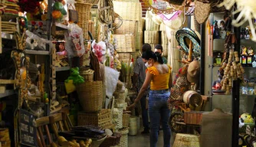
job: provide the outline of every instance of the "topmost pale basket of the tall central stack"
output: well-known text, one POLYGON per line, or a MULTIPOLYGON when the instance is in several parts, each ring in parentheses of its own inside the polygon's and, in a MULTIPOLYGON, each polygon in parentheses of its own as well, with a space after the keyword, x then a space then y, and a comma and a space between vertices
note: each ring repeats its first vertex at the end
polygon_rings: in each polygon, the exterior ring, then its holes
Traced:
POLYGON ((113 9, 123 20, 139 21, 142 18, 140 2, 113 1, 113 9))

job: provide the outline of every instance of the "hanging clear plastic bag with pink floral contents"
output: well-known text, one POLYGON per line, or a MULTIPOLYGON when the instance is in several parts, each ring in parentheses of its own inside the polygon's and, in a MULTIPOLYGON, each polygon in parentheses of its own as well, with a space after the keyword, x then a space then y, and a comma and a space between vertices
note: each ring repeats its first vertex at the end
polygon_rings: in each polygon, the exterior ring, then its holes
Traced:
POLYGON ((70 24, 69 34, 65 35, 65 40, 68 57, 81 57, 84 54, 83 30, 77 24, 70 24))

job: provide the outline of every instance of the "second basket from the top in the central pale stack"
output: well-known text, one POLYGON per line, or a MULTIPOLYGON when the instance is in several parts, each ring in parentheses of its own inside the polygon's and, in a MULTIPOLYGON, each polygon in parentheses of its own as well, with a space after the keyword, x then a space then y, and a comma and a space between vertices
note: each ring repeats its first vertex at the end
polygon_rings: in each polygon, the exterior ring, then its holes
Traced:
MULTIPOLYGON (((115 20, 115 22, 117 19, 115 20)), ((136 34, 138 28, 138 21, 123 20, 123 24, 120 28, 114 31, 114 34, 136 34)))

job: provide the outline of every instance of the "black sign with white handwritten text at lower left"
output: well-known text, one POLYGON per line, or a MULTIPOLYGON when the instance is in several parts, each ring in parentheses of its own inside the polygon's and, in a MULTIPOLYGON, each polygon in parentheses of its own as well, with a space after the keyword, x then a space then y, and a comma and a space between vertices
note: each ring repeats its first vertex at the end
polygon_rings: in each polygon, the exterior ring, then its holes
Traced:
POLYGON ((28 146, 38 146, 36 142, 37 128, 35 116, 24 109, 20 109, 20 132, 21 144, 28 146))

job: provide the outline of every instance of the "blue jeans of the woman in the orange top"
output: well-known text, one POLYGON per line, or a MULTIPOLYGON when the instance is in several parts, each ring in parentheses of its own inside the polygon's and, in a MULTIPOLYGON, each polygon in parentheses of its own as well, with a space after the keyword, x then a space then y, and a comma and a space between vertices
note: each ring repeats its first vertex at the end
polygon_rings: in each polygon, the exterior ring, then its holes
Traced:
POLYGON ((150 90, 149 92, 150 147, 156 147, 160 117, 164 147, 170 147, 171 129, 168 125, 170 109, 167 103, 169 95, 169 90, 150 90))

